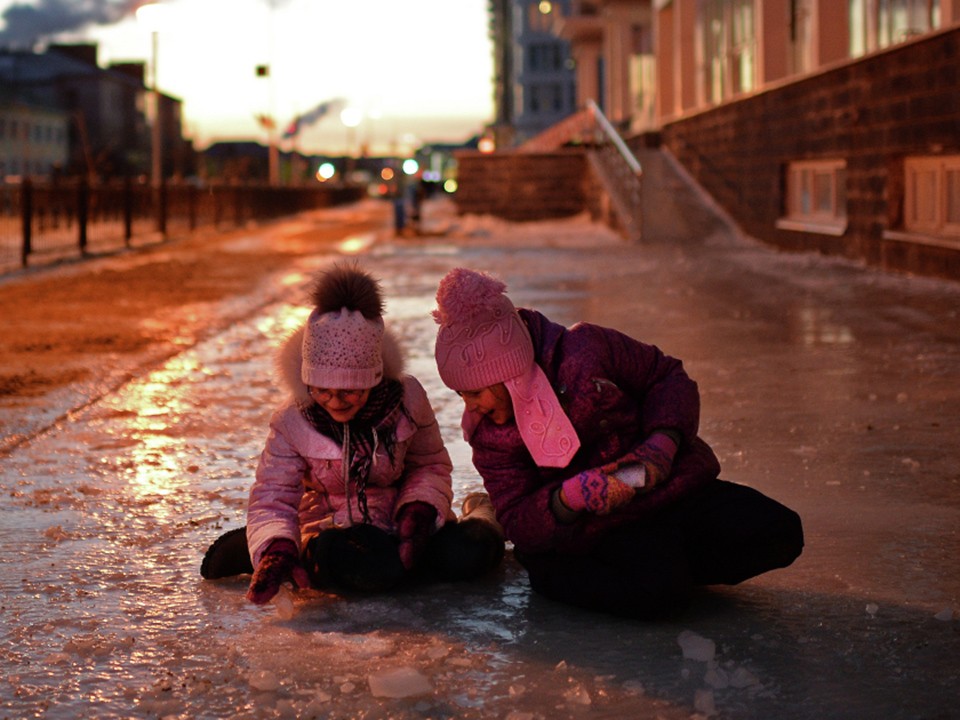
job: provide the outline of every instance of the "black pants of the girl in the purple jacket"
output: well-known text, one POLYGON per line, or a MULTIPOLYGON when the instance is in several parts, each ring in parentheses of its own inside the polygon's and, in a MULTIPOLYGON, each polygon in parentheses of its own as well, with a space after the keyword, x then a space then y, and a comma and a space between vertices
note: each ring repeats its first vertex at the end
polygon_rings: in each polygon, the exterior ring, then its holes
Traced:
POLYGON ((585 555, 514 555, 538 593, 617 615, 684 608, 697 585, 735 585, 786 567, 803 549, 800 516, 718 480, 652 518, 617 528, 585 555))

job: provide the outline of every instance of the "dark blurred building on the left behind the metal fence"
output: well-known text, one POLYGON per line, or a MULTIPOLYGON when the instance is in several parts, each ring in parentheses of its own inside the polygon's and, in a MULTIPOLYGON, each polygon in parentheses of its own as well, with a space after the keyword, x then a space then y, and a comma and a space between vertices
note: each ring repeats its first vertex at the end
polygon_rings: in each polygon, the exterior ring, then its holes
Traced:
MULTIPOLYGON (((0 50, 4 100, 21 108, 44 108, 48 114, 27 120, 29 131, 21 124, 22 137, 45 138, 45 127, 52 122, 49 114, 56 115, 58 122, 66 122, 65 158, 59 159, 59 170, 92 179, 150 173, 150 125, 145 110, 148 90, 143 71, 142 63, 99 67, 97 46, 92 44, 51 45, 42 53, 0 50)), ((181 129, 181 102, 161 94, 159 106, 163 175, 192 174, 192 148, 181 129)), ((31 145, 20 144, 19 149, 22 156, 10 157, 8 167, 17 162, 28 169, 20 174, 33 176, 49 171, 48 167, 38 172, 42 168, 32 155, 28 156, 35 150, 31 145)), ((16 154, 17 147, 11 151, 16 154)))

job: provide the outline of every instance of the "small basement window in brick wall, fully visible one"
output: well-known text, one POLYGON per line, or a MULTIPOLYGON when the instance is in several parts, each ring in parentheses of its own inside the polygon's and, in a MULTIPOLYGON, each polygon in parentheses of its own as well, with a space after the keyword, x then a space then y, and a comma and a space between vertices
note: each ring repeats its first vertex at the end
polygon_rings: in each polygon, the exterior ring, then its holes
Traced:
POLYGON ((847 163, 803 160, 787 168, 786 217, 777 227, 841 235, 847 225, 847 163))

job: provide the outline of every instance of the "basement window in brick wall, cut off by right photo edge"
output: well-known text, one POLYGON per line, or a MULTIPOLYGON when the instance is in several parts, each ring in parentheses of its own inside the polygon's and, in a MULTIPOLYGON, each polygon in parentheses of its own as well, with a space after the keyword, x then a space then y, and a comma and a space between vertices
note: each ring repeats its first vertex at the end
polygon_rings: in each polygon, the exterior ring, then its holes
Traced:
POLYGON ((960 237, 960 155, 907 158, 904 176, 905 229, 960 237))

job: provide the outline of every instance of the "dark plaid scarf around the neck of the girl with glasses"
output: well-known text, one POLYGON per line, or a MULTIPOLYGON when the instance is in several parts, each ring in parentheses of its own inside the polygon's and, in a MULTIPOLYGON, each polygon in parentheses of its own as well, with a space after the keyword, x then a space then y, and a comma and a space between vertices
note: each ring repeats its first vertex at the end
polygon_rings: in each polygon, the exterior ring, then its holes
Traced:
POLYGON ((345 435, 349 433, 349 468, 344 468, 344 476, 352 477, 357 484, 357 503, 365 523, 370 522, 370 513, 367 510, 367 481, 370 479, 374 447, 377 442, 383 443, 387 457, 393 462, 397 423, 386 426, 384 420, 398 407, 402 409, 402 403, 403 385, 400 381, 383 380, 370 391, 367 402, 348 423, 337 422, 330 417, 330 413, 312 400, 300 408, 300 412, 318 433, 336 440, 341 446, 345 435))

